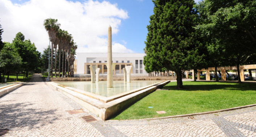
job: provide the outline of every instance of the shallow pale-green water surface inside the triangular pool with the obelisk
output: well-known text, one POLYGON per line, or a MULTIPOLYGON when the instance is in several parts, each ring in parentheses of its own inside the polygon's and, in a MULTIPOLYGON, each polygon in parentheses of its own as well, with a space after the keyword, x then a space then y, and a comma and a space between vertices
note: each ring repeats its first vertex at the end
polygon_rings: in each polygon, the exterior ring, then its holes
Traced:
POLYGON ((162 81, 131 81, 127 83, 124 81, 113 81, 113 88, 107 88, 106 81, 99 81, 91 83, 91 81, 76 81, 76 82, 55 82, 61 85, 73 87, 90 93, 110 97, 112 95, 120 94, 126 91, 138 89, 140 87, 152 85, 162 81))

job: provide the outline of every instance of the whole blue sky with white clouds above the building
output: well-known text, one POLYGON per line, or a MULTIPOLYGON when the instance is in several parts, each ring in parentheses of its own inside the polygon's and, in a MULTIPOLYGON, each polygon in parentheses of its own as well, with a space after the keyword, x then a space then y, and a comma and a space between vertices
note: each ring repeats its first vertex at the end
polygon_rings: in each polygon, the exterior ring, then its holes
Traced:
POLYGON ((77 52, 107 52, 111 25, 112 52, 144 53, 153 8, 152 0, 0 0, 2 38, 12 42, 21 32, 42 52, 49 45, 44 20, 54 18, 72 34, 77 52))

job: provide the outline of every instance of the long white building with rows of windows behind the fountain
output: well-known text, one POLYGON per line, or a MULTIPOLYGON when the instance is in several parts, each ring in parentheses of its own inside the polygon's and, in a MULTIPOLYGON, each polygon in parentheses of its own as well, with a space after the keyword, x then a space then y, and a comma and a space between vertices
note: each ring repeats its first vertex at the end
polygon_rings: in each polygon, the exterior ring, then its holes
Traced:
MULTIPOLYGON (((100 74, 107 74, 107 56, 108 53, 77 53, 76 74, 90 74, 90 65, 100 68, 100 74)), ((144 56, 145 53, 112 53, 112 62, 116 63, 114 74, 123 74, 123 68, 127 65, 132 66, 132 73, 146 74, 144 56)))

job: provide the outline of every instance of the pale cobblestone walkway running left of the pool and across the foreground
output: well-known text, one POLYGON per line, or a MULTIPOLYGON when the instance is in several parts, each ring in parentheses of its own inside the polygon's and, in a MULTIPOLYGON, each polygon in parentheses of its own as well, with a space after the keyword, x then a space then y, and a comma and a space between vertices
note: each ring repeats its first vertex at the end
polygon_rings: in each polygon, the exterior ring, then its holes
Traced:
POLYGON ((0 128, 10 129, 3 137, 256 136, 256 107, 194 117, 86 123, 81 117, 94 114, 46 85, 39 74, 32 81, 0 97, 0 128), (80 108, 85 112, 67 112, 80 108))

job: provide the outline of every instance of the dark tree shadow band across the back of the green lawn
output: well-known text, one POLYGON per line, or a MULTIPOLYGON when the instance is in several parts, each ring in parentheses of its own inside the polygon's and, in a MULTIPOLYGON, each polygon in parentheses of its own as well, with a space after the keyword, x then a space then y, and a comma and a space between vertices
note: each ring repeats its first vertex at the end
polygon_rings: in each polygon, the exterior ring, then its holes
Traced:
MULTIPOLYGON (((197 82, 197 81, 195 81, 197 82)), ((224 82, 223 82, 224 83, 224 82)), ((230 83, 230 82, 227 82, 230 83)), ((255 90, 256 84, 255 83, 241 83, 241 84, 210 84, 210 82, 198 82, 198 84, 183 84, 183 89, 177 89, 177 85, 172 86, 164 86, 162 89, 165 90, 184 90, 184 91, 198 91, 198 90, 241 90, 241 91, 247 91, 247 90, 255 90), (209 84, 207 84, 209 83, 209 84)))

